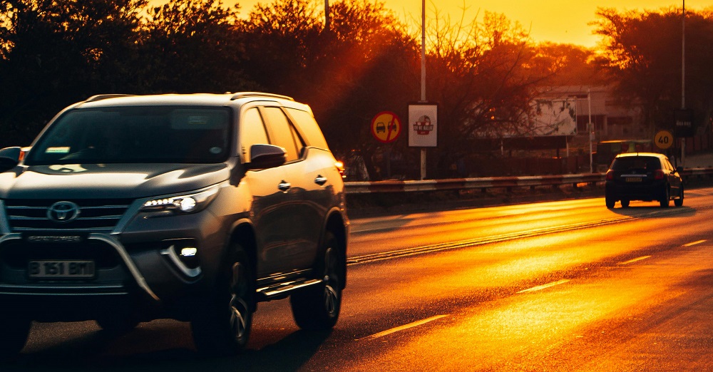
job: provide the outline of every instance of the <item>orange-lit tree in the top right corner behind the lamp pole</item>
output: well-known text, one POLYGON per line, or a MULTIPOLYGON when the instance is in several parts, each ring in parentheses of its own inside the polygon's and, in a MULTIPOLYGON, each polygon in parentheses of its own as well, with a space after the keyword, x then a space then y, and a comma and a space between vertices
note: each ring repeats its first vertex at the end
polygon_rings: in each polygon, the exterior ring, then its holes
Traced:
MULTIPOLYGON (((652 132, 671 129, 674 110, 681 108, 681 12, 599 9, 597 17, 595 32, 604 38, 603 65, 617 93, 642 107, 652 132)), ((695 110, 699 123, 708 123, 713 110, 713 16, 687 11, 686 33, 686 106, 695 110)))

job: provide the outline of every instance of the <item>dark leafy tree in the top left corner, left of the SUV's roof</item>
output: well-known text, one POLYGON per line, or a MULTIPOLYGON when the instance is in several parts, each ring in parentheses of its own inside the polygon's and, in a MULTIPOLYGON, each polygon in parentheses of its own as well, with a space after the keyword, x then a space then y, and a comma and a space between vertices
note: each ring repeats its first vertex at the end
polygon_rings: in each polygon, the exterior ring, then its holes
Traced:
POLYGON ((120 86, 145 0, 1 4, 2 145, 28 145, 60 108, 120 86))

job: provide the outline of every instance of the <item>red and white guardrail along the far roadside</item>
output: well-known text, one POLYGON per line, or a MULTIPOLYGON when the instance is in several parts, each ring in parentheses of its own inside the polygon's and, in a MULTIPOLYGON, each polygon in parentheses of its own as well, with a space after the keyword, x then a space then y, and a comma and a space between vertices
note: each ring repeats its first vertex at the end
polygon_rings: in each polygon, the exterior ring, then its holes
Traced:
MULTIPOLYGON (((682 170, 684 180, 713 176, 713 167, 687 168, 682 170)), ((376 192, 419 192, 438 190, 466 190, 481 189, 486 191, 492 188, 535 187, 573 185, 604 182, 606 173, 587 173, 581 175, 545 175, 526 177, 482 177, 482 178, 453 178, 448 180, 423 180, 423 181, 376 181, 376 182, 344 182, 347 194, 371 194, 376 192)))

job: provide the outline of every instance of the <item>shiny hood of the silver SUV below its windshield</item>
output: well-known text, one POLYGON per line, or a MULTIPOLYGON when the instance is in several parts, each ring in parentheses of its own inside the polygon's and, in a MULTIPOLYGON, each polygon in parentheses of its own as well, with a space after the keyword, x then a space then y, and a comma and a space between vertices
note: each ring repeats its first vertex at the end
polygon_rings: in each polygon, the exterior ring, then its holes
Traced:
POLYGON ((198 190, 230 177, 227 164, 70 164, 0 173, 0 199, 138 199, 198 190))

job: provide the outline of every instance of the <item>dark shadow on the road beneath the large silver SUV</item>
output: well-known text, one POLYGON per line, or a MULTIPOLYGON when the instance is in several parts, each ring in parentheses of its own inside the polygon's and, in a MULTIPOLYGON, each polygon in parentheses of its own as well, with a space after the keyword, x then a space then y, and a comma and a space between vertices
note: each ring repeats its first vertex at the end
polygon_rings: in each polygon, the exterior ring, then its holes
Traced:
POLYGON ((157 334, 155 329, 135 329, 122 336, 92 331, 0 361, 0 371, 297 371, 332 334, 332 330, 298 330, 263 348, 220 357, 195 351, 190 331, 185 334, 179 329, 173 337, 161 335, 175 330, 162 329, 157 334), (173 341, 164 342, 165 336, 173 341), (160 349, 161 344, 168 348, 160 349), (155 350, 141 351, 147 348, 155 350))

